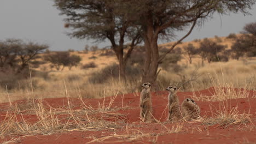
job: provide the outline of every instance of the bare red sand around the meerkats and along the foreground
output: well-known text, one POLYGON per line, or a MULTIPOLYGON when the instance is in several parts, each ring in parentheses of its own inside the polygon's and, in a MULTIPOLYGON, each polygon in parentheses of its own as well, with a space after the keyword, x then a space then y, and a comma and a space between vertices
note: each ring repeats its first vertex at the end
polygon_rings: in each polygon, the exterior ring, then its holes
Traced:
MULTIPOLYGON (((152 92, 153 97, 153 115, 156 119, 160 119, 164 122, 167 117, 167 113, 164 112, 167 105, 167 92, 152 92)), ((214 94, 214 88, 206 89, 203 91, 195 92, 196 95, 204 95, 211 97, 214 94)), ((189 95, 193 95, 192 92, 178 92, 179 100, 182 101, 188 98, 189 95)), ((103 103, 104 99, 83 99, 86 104, 98 106, 98 103, 103 103)), ((105 104, 109 104, 110 97, 106 98, 105 104)), ((16 101, 16 103, 25 103, 26 101, 16 101)), ((66 109, 68 106, 66 98, 51 98, 44 99, 43 103, 56 108, 66 109)), ((73 106, 72 109, 80 109, 81 101, 78 99, 70 99, 70 103, 73 106)), ((228 128, 220 128, 217 125, 204 126, 200 122, 184 122, 180 123, 183 128, 179 133, 166 134, 166 128, 162 127, 158 123, 135 123, 133 128, 130 129, 130 134, 149 134, 141 139, 129 141, 129 139, 117 139, 110 138, 104 140, 108 143, 255 143, 256 142, 256 99, 253 91, 250 91, 249 98, 229 99, 226 101, 196 101, 201 108, 201 117, 211 116, 212 113, 218 111, 222 105, 226 105, 226 110, 229 112, 233 107, 238 107, 237 110, 240 113, 251 114, 252 123, 246 125, 231 125, 228 128), (254 98, 252 98, 254 97, 254 98), (138 128, 138 125, 141 127, 138 128), (200 129, 200 130, 199 130, 200 129), (158 136, 156 136, 158 134, 158 136)), ((0 122, 5 118, 8 103, 0 104, 0 122)), ((139 97, 134 94, 118 95, 114 100, 112 107, 132 107, 133 109, 123 109, 117 111, 126 115, 121 117, 125 123, 133 124, 133 122, 139 122, 139 97)), ((19 115, 18 115, 19 117, 19 115)), ((23 116, 29 122, 37 121, 35 115, 23 116)), ((114 119, 105 119, 107 121, 115 121, 114 119)), ((165 124, 167 128, 172 128, 173 123, 165 124)), ((125 125, 121 125, 122 127, 125 125)), ((101 131, 72 131, 66 133, 58 133, 54 135, 34 135, 34 136, 5 136, 0 139, 0 143, 10 140, 11 137, 20 137, 16 143, 86 143, 92 141, 91 137, 97 139, 103 136, 109 135, 127 135, 126 129, 118 129, 115 131, 101 130, 101 131)), ((14 142, 15 143, 15 142, 14 142)), ((102 142, 92 142, 102 143, 102 142)))

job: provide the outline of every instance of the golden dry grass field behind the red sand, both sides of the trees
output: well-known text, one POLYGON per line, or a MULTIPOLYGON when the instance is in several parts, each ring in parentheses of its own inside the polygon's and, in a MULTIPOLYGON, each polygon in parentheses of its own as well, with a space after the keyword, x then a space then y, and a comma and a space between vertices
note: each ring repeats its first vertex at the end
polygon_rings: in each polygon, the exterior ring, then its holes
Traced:
MULTIPOLYGON (((211 40, 221 39, 221 44, 227 44, 228 47, 234 43, 233 39, 210 38, 211 40)), ((180 47, 193 43, 198 46, 200 41, 191 41, 180 44, 180 47)), ((170 46, 172 43, 162 44, 160 46, 170 46)), ((41 65, 36 70, 44 71, 47 75, 36 75, 32 79, 18 81, 18 86, 13 89, 0 88, 0 103, 14 101, 27 98, 60 98, 65 97, 65 89, 67 88, 69 97, 78 98, 79 95, 85 98, 103 98, 115 94, 126 94, 138 92, 138 83, 140 79, 131 79, 127 83, 122 82, 119 78, 104 77, 107 80, 103 83, 91 83, 89 78, 101 71, 107 65, 117 63, 115 56, 101 56, 102 51, 96 52, 72 52, 83 58, 81 65, 94 62, 98 65, 97 68, 81 69, 80 67, 72 68, 72 70, 64 69, 56 71, 50 69, 49 63, 41 65), (91 56, 96 56, 97 59, 89 59, 91 56), (106 63, 108 59, 108 63, 106 63), (63 83, 66 82, 66 88, 63 83), (33 85, 33 94, 31 93, 31 83, 33 85), (9 100, 10 99, 10 100, 9 100)), ((43 55, 43 54, 42 54, 43 55)), ((200 75, 196 80, 188 82, 181 88, 181 91, 199 91, 209 87, 216 87, 217 91, 222 91, 220 88, 245 88, 256 89, 256 58, 242 58, 240 61, 231 60, 229 62, 213 62, 206 63, 201 67, 201 59, 193 58, 193 64, 188 64, 186 59, 182 59, 178 64, 182 67, 182 71, 174 72, 172 70, 161 70, 158 76, 158 91, 164 91, 168 85, 180 86, 183 82, 188 81, 196 71, 200 75), (219 89, 219 90, 218 90, 219 89)), ((228 92, 228 91, 227 91, 228 92)), ((219 93, 219 92, 218 92, 219 93)), ((246 92, 236 95, 230 89, 230 94, 226 93, 225 98, 217 98, 214 100, 224 100, 228 98, 246 98, 246 92), (234 96, 232 96, 234 95, 234 96), (242 95, 242 96, 241 96, 242 95)), ((219 95, 219 94, 217 94, 219 95)), ((222 94, 224 95, 224 94, 222 94)), ((200 100, 205 99, 201 98, 200 100)), ((212 100, 212 99, 209 99, 212 100)))

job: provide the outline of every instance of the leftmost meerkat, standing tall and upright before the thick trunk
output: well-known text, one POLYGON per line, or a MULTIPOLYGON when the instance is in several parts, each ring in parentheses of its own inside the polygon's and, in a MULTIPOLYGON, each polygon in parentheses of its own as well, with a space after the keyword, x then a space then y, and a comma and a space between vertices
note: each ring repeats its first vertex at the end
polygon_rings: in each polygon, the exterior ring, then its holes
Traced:
POLYGON ((153 122, 152 120, 152 100, 151 100, 151 83, 143 83, 141 85, 143 87, 143 90, 141 91, 141 100, 140 100, 140 117, 143 119, 143 122, 153 122))

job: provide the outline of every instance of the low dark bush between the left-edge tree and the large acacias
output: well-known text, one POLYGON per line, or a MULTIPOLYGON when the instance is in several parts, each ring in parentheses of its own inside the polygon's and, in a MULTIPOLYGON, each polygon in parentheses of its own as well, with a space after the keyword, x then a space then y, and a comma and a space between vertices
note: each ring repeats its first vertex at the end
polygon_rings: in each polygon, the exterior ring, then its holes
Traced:
POLYGON ((77 55, 70 55, 69 52, 53 52, 44 56, 44 60, 50 62, 56 70, 63 70, 65 67, 71 69, 77 66, 82 58, 77 55))

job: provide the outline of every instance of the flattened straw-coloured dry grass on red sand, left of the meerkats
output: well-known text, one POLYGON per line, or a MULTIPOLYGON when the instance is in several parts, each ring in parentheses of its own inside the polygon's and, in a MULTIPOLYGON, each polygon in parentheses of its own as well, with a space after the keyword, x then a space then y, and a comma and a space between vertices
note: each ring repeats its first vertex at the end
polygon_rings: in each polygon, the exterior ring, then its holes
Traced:
POLYGON ((98 108, 86 105, 80 97, 83 103, 82 109, 80 110, 72 110, 68 94, 66 96, 68 100, 67 109, 55 109, 51 106, 45 106, 42 100, 34 99, 32 99, 33 106, 23 111, 20 111, 17 105, 11 106, 14 108, 11 108, 11 112, 6 113, 4 120, 0 123, 0 136, 24 134, 49 135, 74 130, 115 130, 120 127, 118 123, 123 123, 123 119, 120 119, 120 117, 125 118, 124 115, 120 113, 109 113, 112 110, 116 111, 115 107, 112 107, 116 96, 110 100, 109 104, 105 104, 104 102, 102 104, 99 103, 98 108), (37 122, 28 122, 27 119, 24 119, 23 115, 27 114, 28 111, 36 115, 37 122), (65 115, 66 117, 59 117, 59 115, 65 115), (105 121, 102 117, 115 119, 115 122, 105 121))

